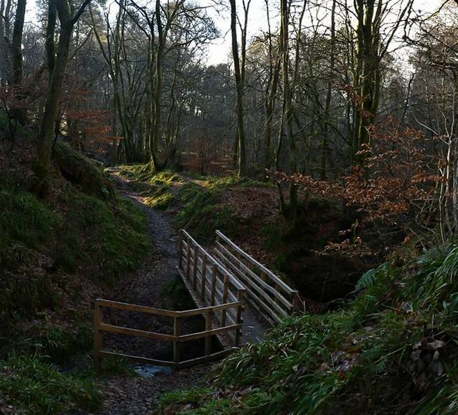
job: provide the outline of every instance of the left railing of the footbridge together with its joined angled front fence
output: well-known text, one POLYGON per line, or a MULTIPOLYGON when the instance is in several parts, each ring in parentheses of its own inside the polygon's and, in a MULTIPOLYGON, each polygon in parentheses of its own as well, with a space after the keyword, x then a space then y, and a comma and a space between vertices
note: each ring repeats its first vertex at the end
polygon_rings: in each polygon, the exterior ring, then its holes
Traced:
POLYGON ((239 344, 241 328, 243 326, 242 311, 245 304, 245 293, 247 292, 247 288, 245 288, 243 283, 229 272, 218 259, 209 255, 185 230, 179 231, 178 270, 186 287, 191 295, 193 295, 196 304, 203 305, 201 308, 173 311, 139 304, 116 302, 108 299, 96 300, 94 317, 94 362, 96 368, 100 367, 102 356, 124 356, 136 360, 153 362, 153 364, 184 367, 196 364, 197 362, 218 358, 223 356, 223 354, 226 355, 229 350, 232 350, 225 349, 223 352, 211 353, 211 337, 213 335, 221 335, 223 333, 231 335, 231 333, 234 333, 231 338, 234 340, 234 346, 239 344), (123 311, 170 317, 173 319, 173 334, 155 333, 107 324, 103 322, 103 308, 115 308, 123 311), (182 318, 193 315, 204 315, 204 331, 182 334, 182 318), (213 322, 216 323, 216 326, 212 326, 213 322), (103 351, 104 332, 173 342, 173 362, 103 351), (200 338, 204 338, 204 356, 183 362, 180 356, 181 344, 200 338))

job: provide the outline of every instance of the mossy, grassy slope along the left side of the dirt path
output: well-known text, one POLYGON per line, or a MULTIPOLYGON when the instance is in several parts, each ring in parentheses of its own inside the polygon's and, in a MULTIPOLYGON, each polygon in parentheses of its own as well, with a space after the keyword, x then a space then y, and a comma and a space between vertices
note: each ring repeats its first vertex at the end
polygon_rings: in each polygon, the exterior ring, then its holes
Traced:
MULTIPOLYGON (((0 175, 0 401, 24 414, 99 407, 96 374, 87 369, 87 303, 150 249, 146 213, 67 147, 55 147, 64 177, 51 178, 46 199, 26 190, 24 172, 0 175)), ((103 374, 126 372, 121 360, 104 362, 103 374)))

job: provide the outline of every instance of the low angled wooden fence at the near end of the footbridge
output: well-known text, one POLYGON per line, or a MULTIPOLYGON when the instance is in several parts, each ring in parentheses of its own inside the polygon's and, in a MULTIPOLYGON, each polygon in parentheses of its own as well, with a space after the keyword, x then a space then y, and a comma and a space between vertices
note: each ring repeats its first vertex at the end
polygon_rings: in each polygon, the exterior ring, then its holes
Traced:
POLYGON ((125 304, 122 302, 109 301, 107 299, 97 299, 95 306, 94 317, 94 363, 96 369, 100 369, 100 362, 104 356, 120 356, 138 362, 150 363, 152 365, 169 366, 175 369, 182 367, 189 367, 197 365, 198 363, 216 360, 229 355, 234 348, 224 349, 216 353, 211 353, 211 337, 213 335, 221 335, 223 333, 230 333, 235 331, 234 343, 237 344, 240 339, 240 329, 242 327, 242 308, 243 301, 227 302, 225 304, 217 304, 204 308, 196 308, 186 311, 170 311, 161 310, 159 308, 152 308, 147 306, 139 306, 135 304, 125 304), (138 329, 131 329, 123 326, 114 326, 103 322, 103 308, 116 308, 124 311, 134 311, 137 313, 148 313, 152 315, 167 316, 173 319, 173 334, 155 333, 152 331, 144 331, 138 329), (222 325, 213 329, 213 316, 216 313, 229 313, 234 311, 236 320, 229 325, 222 325), (182 334, 181 326, 184 317, 191 317, 194 315, 203 315, 205 318, 205 330, 197 333, 182 334), (144 358, 141 356, 132 356, 123 353, 116 353, 114 351, 103 350, 103 333, 118 333, 121 335, 132 335, 152 340, 161 340, 164 342, 173 342, 173 361, 157 360, 144 358), (190 360, 180 359, 180 348, 184 342, 204 338, 204 356, 193 358, 190 360))

